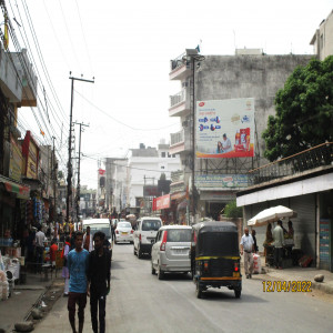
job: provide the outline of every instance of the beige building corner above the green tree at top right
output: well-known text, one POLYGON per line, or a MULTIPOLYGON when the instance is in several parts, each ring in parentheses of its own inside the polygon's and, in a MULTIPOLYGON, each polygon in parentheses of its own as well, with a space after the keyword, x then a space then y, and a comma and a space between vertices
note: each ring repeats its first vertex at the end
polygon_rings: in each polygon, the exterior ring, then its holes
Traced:
POLYGON ((327 56, 333 54, 333 10, 321 22, 310 44, 313 46, 313 53, 320 60, 324 60, 327 56))

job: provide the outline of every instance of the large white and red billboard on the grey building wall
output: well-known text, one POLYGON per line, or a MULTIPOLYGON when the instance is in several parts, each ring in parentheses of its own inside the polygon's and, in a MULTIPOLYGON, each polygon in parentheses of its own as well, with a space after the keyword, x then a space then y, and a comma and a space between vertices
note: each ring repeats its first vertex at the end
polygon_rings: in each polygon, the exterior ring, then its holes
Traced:
POLYGON ((196 158, 254 155, 254 99, 196 102, 196 158))

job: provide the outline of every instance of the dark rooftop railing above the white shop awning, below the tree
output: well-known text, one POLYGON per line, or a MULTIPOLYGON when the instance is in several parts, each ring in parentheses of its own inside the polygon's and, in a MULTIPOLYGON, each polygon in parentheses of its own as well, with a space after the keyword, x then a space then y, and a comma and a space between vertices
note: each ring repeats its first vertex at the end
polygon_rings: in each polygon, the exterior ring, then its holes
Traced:
POLYGON ((322 143, 289 158, 249 171, 253 185, 333 165, 333 142, 322 143))

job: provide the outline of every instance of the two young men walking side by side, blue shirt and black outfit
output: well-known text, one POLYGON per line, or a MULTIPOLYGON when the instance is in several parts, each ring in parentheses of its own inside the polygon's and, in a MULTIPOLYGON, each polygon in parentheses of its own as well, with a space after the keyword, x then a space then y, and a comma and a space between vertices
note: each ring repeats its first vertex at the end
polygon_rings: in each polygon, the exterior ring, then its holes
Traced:
POLYGON ((81 333, 83 331, 87 296, 90 296, 92 331, 103 333, 105 332, 107 295, 111 286, 111 254, 108 246, 104 246, 105 234, 98 231, 92 236, 88 226, 84 235, 78 231, 73 238, 74 249, 71 250, 70 238, 67 236, 62 253, 64 296, 68 296, 72 332, 81 333), (75 329, 77 304, 79 331, 75 329))

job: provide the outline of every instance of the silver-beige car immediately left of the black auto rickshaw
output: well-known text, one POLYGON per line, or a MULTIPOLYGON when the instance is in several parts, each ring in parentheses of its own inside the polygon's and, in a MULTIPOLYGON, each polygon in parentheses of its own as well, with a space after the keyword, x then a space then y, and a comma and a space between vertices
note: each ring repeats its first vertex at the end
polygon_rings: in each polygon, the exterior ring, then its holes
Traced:
POLYGON ((158 273, 159 280, 167 272, 191 272, 191 234, 189 225, 160 228, 151 251, 151 273, 158 273))

